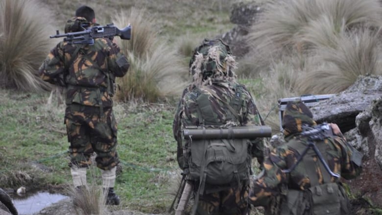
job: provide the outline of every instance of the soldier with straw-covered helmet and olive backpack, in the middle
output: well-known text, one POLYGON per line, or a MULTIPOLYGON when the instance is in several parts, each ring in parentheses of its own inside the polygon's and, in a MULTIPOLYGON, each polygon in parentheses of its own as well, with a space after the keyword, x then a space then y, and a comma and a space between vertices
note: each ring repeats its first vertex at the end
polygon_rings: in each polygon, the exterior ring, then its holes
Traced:
POLYGON ((263 161, 260 138, 184 140, 182 130, 263 125, 255 102, 236 81, 236 62, 220 39, 207 40, 190 61, 193 83, 183 92, 173 122, 177 160, 193 187, 198 215, 246 215, 251 161, 263 161))

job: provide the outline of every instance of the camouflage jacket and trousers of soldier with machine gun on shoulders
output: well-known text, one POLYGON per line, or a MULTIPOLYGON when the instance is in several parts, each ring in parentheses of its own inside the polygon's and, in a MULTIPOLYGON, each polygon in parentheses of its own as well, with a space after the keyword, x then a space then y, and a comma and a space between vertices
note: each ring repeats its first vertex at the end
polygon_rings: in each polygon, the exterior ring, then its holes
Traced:
MULTIPOLYGON (((68 21, 65 31, 76 31, 78 20, 86 22, 75 17, 68 21)), ((97 167, 108 170, 118 165, 112 96, 115 77, 125 75, 128 68, 127 58, 108 38, 96 38, 94 45, 62 41, 41 65, 43 80, 66 88, 65 124, 71 143, 71 167, 90 165, 94 151, 97 167)))

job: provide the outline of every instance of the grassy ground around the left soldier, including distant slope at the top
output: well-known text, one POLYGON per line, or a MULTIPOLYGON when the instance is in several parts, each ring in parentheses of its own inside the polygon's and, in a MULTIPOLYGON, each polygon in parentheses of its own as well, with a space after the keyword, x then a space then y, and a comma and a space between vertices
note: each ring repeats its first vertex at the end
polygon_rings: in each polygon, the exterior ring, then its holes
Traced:
MULTIPOLYGON (((169 46, 185 36, 195 38, 194 43, 198 44, 204 37, 214 37, 234 26, 229 21, 232 1, 228 0, 40 2, 55 14, 52 23, 61 32, 66 20, 82 4, 95 9, 100 24, 112 22, 117 12, 128 13, 133 7, 145 9, 154 17, 156 30, 169 46)), ((71 185, 69 143, 63 123, 65 105, 56 106, 54 102, 47 105, 48 96, 49 93, 0 90, 1 188, 25 186, 29 192, 49 188, 65 191, 71 185)), ((121 160, 116 191, 122 202, 117 209, 164 213, 169 207, 171 192, 176 189, 173 181, 178 178, 174 160, 176 143, 171 129, 175 104, 176 101, 116 104, 121 160)), ((89 181, 99 181, 98 169, 88 172, 89 181)))

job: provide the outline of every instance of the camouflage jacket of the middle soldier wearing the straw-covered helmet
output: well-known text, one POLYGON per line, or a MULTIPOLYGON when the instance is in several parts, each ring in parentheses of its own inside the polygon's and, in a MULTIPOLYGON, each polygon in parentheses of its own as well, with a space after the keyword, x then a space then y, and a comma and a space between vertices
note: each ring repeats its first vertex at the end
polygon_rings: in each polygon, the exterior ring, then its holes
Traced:
MULTIPOLYGON (((241 118, 238 126, 264 125, 263 119, 259 114, 256 104, 244 85, 221 79, 213 79, 212 82, 212 85, 205 85, 200 87, 196 87, 194 84, 189 85, 183 91, 182 97, 178 103, 176 114, 173 120, 172 130, 173 136, 178 143, 178 164, 182 169, 187 168, 188 164, 185 157, 188 157, 187 154, 190 153, 187 141, 182 139, 182 129, 187 125, 200 124, 199 118, 197 116, 197 107, 195 105, 195 90, 201 90, 203 93, 209 95, 211 106, 215 111, 214 117, 217 118, 221 125, 224 125, 229 122, 229 119, 226 118, 227 112, 229 110, 225 108, 225 103, 213 96, 210 92, 213 91, 215 92, 215 95, 229 101, 236 95, 234 92, 235 87, 239 86, 242 89, 241 97, 243 102, 241 104, 241 110, 238 113, 241 118), (206 88, 208 88, 208 90, 206 90, 206 88), (184 153, 186 153, 186 155, 184 155, 184 153)), ((262 162, 264 150, 263 140, 255 139, 251 140, 251 142, 252 146, 250 148, 250 152, 252 157, 256 157, 258 158, 259 162, 262 162)))

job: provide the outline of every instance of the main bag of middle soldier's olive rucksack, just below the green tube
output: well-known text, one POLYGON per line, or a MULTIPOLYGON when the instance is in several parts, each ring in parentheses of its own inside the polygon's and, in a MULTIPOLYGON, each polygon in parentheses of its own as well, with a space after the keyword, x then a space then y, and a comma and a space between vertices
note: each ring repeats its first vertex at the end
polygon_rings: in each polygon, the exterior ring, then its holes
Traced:
POLYGON ((206 184, 224 185, 247 179, 250 165, 248 144, 246 139, 192 141, 188 179, 200 180, 203 168, 206 184), (205 144, 208 144, 206 151, 205 144))

